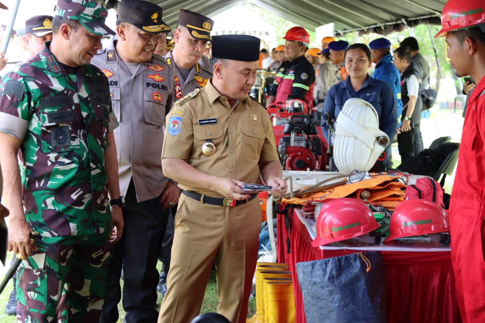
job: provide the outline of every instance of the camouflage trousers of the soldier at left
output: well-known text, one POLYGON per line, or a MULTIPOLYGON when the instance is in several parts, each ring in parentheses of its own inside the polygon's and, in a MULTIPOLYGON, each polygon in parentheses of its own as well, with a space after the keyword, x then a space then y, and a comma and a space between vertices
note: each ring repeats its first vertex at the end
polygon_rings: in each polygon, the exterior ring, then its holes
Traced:
POLYGON ((97 322, 106 291, 109 231, 39 237, 17 269, 17 322, 97 322))

